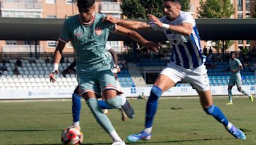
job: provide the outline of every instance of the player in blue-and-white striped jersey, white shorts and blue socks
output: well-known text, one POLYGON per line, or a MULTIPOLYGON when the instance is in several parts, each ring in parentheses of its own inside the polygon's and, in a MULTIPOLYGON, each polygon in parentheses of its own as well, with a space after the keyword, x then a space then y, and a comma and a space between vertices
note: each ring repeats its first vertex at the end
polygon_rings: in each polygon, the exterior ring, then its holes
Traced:
POLYGON ((163 31, 170 44, 173 53, 171 62, 161 71, 150 92, 147 101, 145 128, 139 134, 132 134, 127 137, 130 142, 148 140, 151 137, 154 115, 157 111, 157 100, 166 90, 175 86, 175 83, 183 79, 191 83, 200 96, 201 105, 205 113, 220 121, 237 139, 246 139, 244 133, 230 123, 220 108, 214 106, 212 101, 207 69, 202 55, 200 38, 196 28, 195 19, 190 13, 181 11, 180 0, 164 0, 164 17, 157 18, 154 15, 147 15, 150 22, 137 22, 132 20, 120 20, 108 16, 109 22, 122 25, 129 29, 152 29, 163 31))

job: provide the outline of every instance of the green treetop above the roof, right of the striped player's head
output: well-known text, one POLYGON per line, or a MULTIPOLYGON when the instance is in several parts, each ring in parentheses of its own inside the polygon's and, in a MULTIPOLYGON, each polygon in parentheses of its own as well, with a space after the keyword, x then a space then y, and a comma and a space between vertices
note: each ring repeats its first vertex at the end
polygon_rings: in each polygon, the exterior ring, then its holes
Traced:
POLYGON ((230 18, 235 9, 230 0, 200 0, 199 18, 230 18))

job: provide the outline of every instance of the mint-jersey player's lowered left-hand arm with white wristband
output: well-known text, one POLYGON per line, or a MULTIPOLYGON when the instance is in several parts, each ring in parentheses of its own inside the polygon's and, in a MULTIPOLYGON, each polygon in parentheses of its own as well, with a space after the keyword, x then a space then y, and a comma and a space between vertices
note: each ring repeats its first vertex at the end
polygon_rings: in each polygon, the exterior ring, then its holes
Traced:
POLYGON ((55 74, 58 74, 59 72, 59 64, 60 64, 60 59, 61 59, 61 54, 62 54, 62 50, 64 49, 66 43, 59 41, 56 50, 54 52, 54 66, 52 69, 52 72, 49 74, 49 78, 51 82, 55 82, 56 78, 55 78, 55 74))

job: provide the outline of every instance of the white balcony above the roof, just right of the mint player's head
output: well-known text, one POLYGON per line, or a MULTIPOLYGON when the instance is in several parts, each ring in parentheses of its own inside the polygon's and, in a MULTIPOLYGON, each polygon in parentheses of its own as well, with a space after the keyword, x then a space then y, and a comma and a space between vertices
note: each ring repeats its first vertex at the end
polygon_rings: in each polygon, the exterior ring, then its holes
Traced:
POLYGON ((102 2, 100 13, 122 13, 120 3, 102 2))

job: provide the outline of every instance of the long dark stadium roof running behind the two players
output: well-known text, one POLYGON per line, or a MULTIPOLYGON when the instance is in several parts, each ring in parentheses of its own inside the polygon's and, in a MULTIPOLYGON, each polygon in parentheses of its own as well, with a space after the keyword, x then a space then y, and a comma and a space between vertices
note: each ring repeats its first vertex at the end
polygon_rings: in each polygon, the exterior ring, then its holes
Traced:
MULTIPOLYGON (((65 19, 58 18, 0 18, 1 40, 57 40, 65 19)), ((139 21, 146 21, 136 19, 139 21)), ((202 40, 255 40, 256 18, 250 19, 196 19, 202 40)), ((138 32, 148 40, 166 40, 163 32, 138 32)), ((125 36, 109 34, 109 40, 128 40, 125 36)))

